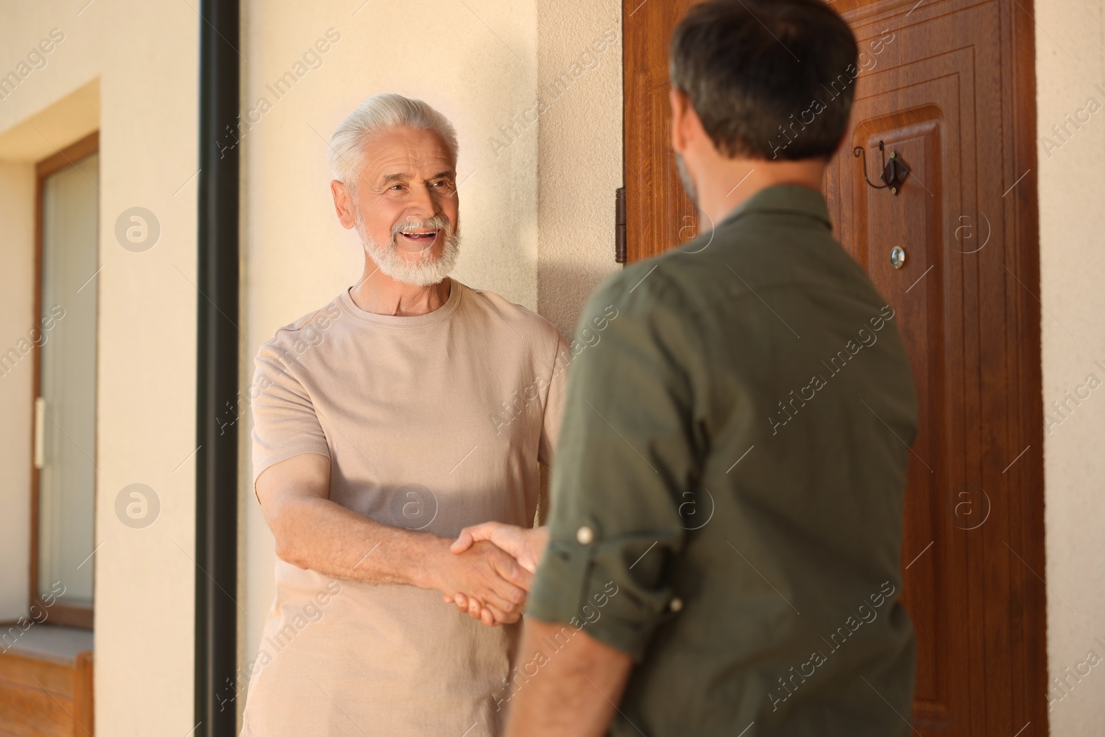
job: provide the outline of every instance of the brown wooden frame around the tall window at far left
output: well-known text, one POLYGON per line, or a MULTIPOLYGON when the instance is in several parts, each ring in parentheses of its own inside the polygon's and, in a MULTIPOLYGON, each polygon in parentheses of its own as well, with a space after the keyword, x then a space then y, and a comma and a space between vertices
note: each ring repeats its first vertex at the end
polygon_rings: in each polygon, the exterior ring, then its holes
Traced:
MULTIPOLYGON (((62 169, 74 166, 76 161, 96 154, 99 151, 99 131, 86 136, 81 140, 66 146, 65 148, 59 150, 53 156, 39 161, 35 165, 35 180, 34 180, 34 319, 35 322, 42 317, 42 186, 45 178, 52 173, 61 171, 62 169)), ((98 233, 97 233, 98 241, 98 233)), ((97 297, 98 303, 98 297, 97 297)), ((98 304, 97 304, 98 307, 98 304)), ((97 318, 98 320, 98 318, 97 318)), ((34 399, 38 399, 40 392, 42 391, 42 348, 38 343, 34 345, 34 393, 32 394, 34 399)), ((98 414, 98 407, 96 408, 98 414)), ((32 438, 35 431, 34 422, 36 419, 31 420, 31 432, 32 438)), ((96 448, 93 449, 93 454, 98 453, 99 443, 96 443, 96 448)), ((95 476, 93 476, 95 478, 95 476)), ((93 510, 96 508, 96 485, 93 482, 93 510)), ((93 629, 93 611, 95 608, 95 600, 91 607, 82 607, 78 604, 66 604, 61 601, 55 601, 53 604, 46 604, 39 598, 39 470, 34 465, 34 457, 31 457, 31 575, 28 586, 30 604, 38 606, 43 611, 48 612, 48 617, 44 623, 61 624, 67 627, 78 627, 86 630, 93 629)), ((93 525, 93 540, 96 539, 95 528, 96 528, 96 517, 93 514, 92 519, 93 525)), ((93 581, 95 582, 95 567, 93 568, 93 581)), ((95 587, 94 587, 95 590, 95 587)))

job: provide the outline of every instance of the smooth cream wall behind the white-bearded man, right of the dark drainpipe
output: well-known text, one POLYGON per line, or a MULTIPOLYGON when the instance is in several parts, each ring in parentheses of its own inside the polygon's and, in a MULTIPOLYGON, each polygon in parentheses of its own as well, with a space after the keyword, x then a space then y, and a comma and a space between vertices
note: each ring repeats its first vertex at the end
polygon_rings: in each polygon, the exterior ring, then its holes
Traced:
MULTIPOLYGON (((491 143, 534 99, 536 49, 533 0, 248 3, 243 95, 248 108, 263 107, 262 97, 272 107, 252 116, 255 125, 242 138, 243 387, 259 346, 277 327, 360 278, 360 245, 334 214, 326 143, 376 93, 425 99, 456 127, 463 241, 454 275, 536 309, 537 131, 503 148, 491 143), (276 90, 275 81, 320 39, 328 43, 318 49, 327 51, 308 56, 290 92, 276 90)), ((273 539, 251 493, 250 427, 242 425, 240 591, 249 615, 240 636, 239 708, 274 593, 273 539)))

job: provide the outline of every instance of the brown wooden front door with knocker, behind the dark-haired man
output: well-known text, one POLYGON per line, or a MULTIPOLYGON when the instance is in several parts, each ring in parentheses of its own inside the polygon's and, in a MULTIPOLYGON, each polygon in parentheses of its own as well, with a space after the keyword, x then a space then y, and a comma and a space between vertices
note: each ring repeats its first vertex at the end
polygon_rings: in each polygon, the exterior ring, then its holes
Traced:
MULTIPOLYGON (((669 40, 692 4, 623 6, 629 261, 697 234, 667 110, 669 40)), ((833 7, 861 72, 825 192, 838 239, 899 315, 920 413, 903 546, 913 725, 1046 735, 1032 3, 833 7), (865 161, 883 185, 884 155, 908 171, 896 192, 864 178, 865 161)))

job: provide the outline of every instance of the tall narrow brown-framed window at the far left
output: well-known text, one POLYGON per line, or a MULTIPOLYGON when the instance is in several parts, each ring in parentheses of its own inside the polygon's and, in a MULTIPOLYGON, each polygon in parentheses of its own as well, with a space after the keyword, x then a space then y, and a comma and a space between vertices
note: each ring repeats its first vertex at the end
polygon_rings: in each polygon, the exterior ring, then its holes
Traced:
POLYGON ((96 489, 98 135, 38 166, 31 600, 92 627, 96 489))

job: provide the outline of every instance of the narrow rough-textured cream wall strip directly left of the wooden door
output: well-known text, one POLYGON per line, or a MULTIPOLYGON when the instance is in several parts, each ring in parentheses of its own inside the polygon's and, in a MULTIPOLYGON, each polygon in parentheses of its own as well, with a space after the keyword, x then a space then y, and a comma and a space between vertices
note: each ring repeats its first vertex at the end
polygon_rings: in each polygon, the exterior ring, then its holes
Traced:
POLYGON ((571 338, 583 302, 621 269, 613 256, 614 190, 622 186, 621 3, 539 0, 537 7, 537 95, 547 104, 538 130, 537 304, 571 338))

